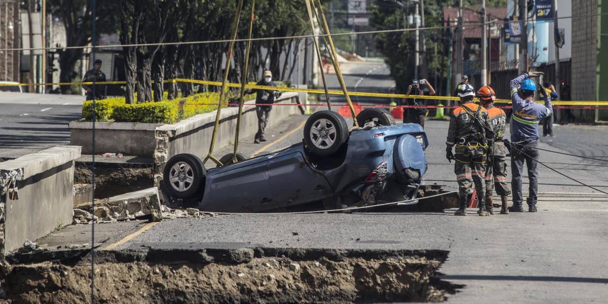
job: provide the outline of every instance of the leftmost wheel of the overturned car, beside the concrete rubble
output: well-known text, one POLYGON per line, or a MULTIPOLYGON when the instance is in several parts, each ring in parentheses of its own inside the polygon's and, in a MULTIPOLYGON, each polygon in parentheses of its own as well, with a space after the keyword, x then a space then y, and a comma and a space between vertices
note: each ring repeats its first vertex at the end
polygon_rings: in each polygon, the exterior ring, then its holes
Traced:
POLYGON ((162 180, 174 198, 191 199, 202 196, 206 175, 201 159, 193 154, 177 154, 165 164, 162 180))

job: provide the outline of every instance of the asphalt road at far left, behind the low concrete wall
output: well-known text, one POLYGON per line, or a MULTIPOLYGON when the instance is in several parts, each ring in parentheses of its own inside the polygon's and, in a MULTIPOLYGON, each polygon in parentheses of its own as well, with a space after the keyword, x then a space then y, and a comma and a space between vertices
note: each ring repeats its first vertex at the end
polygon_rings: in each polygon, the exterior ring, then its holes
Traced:
POLYGON ((0 93, 0 159, 70 143, 68 123, 80 119, 84 97, 0 93))

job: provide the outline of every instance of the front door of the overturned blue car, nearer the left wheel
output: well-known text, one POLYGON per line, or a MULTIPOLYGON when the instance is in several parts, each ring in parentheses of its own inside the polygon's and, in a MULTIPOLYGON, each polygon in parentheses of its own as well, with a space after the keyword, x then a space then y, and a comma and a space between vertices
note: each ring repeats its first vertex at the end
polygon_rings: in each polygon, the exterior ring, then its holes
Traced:
POLYGON ((227 169, 230 170, 209 171, 202 210, 257 212, 277 207, 269 184, 268 159, 227 169))

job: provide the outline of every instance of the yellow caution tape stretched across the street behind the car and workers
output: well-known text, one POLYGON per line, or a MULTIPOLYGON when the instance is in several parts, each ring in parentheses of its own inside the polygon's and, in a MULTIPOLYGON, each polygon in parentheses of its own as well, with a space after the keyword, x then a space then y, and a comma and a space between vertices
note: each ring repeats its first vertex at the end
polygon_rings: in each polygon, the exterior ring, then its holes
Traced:
MULTIPOLYGON (((154 81, 152 81, 154 82, 154 81)), ((196 83, 198 85, 209 85, 209 86, 221 86, 222 83, 220 81, 209 81, 209 80, 195 80, 195 79, 185 79, 185 78, 175 78, 170 80, 164 80, 163 83, 196 83)), ((69 82, 69 83, 18 83, 18 84, 9 84, 2 83, 0 86, 69 86, 69 85, 93 85, 92 82, 69 82)), ((126 81, 99 81, 95 82, 96 85, 126 85, 126 81)), ((240 83, 226 83, 228 88, 240 88, 240 83)), ((311 93, 311 94, 325 94, 325 90, 322 89, 299 89, 299 88, 286 88, 286 87, 277 87, 277 86, 260 86, 260 85, 245 85, 246 89, 266 89, 266 90, 274 90, 274 91, 282 91, 282 92, 303 92, 303 93, 311 93)), ((329 90, 328 93, 330 95, 344 95, 342 91, 333 91, 329 90)), ((437 96, 437 95, 406 95, 406 94, 390 94, 390 93, 376 93, 376 92, 348 92, 348 95, 351 96, 361 96, 361 97, 387 97, 387 98, 418 98, 418 99, 428 99, 428 100, 454 100, 459 101, 460 98, 454 96, 437 96)), ((510 99, 496 99, 494 103, 506 103, 511 104, 510 99)), ((537 101, 537 103, 543 103, 542 101, 537 101)), ((573 100, 560 100, 551 102, 552 105, 556 106, 608 106, 608 101, 573 101, 573 100)))

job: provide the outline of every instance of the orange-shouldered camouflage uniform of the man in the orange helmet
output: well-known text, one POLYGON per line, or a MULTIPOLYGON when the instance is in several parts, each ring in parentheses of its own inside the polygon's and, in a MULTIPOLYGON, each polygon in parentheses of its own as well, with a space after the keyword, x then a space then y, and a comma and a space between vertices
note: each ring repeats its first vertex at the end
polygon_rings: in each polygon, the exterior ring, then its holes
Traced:
POLYGON ((496 108, 493 103, 487 105, 489 124, 494 131, 494 145, 489 151, 490 161, 486 166, 486 197, 491 197, 496 187, 496 194, 508 196, 511 190, 506 185, 506 162, 505 157, 508 153, 505 143, 502 141, 502 134, 506 129, 506 114, 502 109, 496 108))

